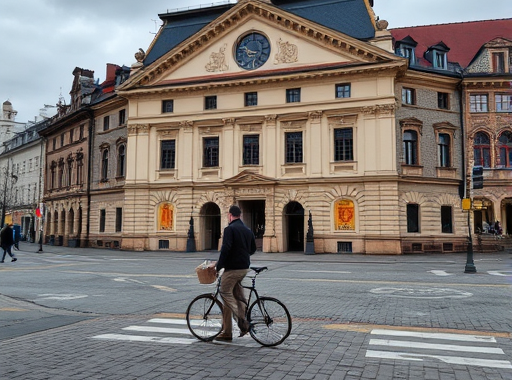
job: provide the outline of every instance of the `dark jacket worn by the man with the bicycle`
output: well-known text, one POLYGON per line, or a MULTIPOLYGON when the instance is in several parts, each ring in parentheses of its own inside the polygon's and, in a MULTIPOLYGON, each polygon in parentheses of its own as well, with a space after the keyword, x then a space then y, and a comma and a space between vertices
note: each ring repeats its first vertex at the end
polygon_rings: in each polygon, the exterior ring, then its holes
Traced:
POLYGON ((249 269, 250 256, 256 252, 254 234, 240 219, 234 219, 224 229, 217 270, 249 269))

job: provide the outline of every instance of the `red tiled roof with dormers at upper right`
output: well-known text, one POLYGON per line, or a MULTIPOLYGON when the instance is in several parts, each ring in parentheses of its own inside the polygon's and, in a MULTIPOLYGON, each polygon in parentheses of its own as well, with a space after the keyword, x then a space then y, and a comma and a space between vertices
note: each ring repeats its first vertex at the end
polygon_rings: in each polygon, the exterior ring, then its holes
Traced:
POLYGON ((466 68, 482 45, 498 37, 512 40, 512 18, 412 26, 390 32, 395 41, 411 36, 418 43, 416 56, 420 58, 430 46, 442 41, 450 48, 448 61, 466 68))

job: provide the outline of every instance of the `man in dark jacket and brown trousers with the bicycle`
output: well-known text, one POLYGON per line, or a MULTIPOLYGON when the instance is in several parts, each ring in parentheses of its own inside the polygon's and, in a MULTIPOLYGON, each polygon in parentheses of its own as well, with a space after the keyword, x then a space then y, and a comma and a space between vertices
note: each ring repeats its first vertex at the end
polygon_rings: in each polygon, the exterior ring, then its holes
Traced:
POLYGON ((224 229, 216 267, 217 271, 224 268, 220 284, 224 330, 217 337, 219 340, 233 339, 233 316, 240 328, 240 336, 249 332, 249 322, 245 319, 247 300, 241 282, 249 272, 250 256, 256 251, 256 241, 251 230, 240 220, 241 213, 238 206, 229 208, 229 225, 224 229))

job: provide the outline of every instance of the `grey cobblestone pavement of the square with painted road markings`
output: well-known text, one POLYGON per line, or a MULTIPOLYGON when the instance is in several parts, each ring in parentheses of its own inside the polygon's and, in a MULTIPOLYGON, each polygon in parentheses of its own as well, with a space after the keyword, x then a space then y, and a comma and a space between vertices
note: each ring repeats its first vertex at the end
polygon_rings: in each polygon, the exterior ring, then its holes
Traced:
POLYGON ((1 379, 512 379, 508 252, 475 255, 477 274, 461 255, 257 253, 258 289, 293 316, 265 348, 183 324, 211 290, 186 268, 216 253, 34 248, 0 267, 1 379))

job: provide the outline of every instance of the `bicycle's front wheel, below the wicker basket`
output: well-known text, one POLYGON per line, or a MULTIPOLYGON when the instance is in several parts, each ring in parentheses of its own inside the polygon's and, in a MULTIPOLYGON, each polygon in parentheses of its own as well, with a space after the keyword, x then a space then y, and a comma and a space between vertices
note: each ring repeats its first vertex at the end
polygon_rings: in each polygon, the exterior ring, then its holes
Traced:
POLYGON ((212 341, 222 331, 222 304, 211 294, 197 296, 188 306, 187 325, 197 339, 212 341))

